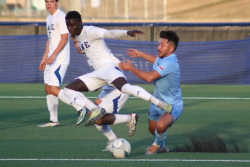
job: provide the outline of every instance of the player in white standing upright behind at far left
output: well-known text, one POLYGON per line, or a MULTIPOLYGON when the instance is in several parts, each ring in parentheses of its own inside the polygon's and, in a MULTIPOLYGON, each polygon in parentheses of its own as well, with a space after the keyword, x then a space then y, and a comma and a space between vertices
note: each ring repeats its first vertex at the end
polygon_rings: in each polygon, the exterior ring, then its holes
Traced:
MULTIPOLYGON (((65 23, 65 13, 58 9, 59 0, 45 0, 46 8, 50 15, 46 19, 48 40, 39 69, 44 71, 45 92, 47 106, 50 113, 48 123, 38 127, 57 127, 58 98, 70 105, 71 101, 60 90, 63 78, 70 61, 69 32, 65 23)), ((82 107, 71 104, 77 111, 82 107)))

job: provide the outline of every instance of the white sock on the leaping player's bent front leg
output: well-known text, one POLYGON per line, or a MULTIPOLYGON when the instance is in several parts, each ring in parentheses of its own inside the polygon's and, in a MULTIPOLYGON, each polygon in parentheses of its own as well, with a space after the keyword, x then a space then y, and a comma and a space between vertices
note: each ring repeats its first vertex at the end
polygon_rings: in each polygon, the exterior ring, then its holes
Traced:
POLYGON ((65 96, 70 99, 71 103, 76 103, 82 108, 87 108, 89 110, 92 110, 93 108, 97 107, 92 101, 87 99, 81 92, 67 88, 64 88, 63 92, 65 96))

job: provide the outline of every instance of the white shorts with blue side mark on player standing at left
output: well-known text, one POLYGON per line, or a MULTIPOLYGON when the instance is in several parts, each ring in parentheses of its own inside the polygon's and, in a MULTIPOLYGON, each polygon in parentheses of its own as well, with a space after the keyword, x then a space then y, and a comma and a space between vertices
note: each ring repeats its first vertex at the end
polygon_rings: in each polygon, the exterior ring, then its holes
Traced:
POLYGON ((44 83, 60 87, 68 66, 68 64, 46 65, 44 70, 44 83))

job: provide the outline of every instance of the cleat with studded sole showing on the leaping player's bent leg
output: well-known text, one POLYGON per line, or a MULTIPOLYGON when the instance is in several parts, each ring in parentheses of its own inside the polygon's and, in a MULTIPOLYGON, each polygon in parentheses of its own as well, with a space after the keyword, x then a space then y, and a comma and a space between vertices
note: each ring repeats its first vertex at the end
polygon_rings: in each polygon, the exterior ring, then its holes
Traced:
POLYGON ((94 125, 99 118, 104 116, 106 114, 106 110, 101 107, 96 107, 91 110, 91 115, 89 119, 85 122, 85 126, 91 126, 94 125))

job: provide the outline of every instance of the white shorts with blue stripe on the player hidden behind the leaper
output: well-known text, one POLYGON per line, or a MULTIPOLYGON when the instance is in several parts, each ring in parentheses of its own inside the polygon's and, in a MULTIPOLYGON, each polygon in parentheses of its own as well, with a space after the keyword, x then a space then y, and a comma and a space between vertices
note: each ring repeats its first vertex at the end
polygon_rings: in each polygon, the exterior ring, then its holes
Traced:
POLYGON ((103 89, 101 96, 99 95, 98 97, 102 100, 99 104, 100 107, 104 108, 107 113, 117 114, 128 100, 129 95, 124 94, 115 88, 111 91, 105 91, 105 89, 103 89))

